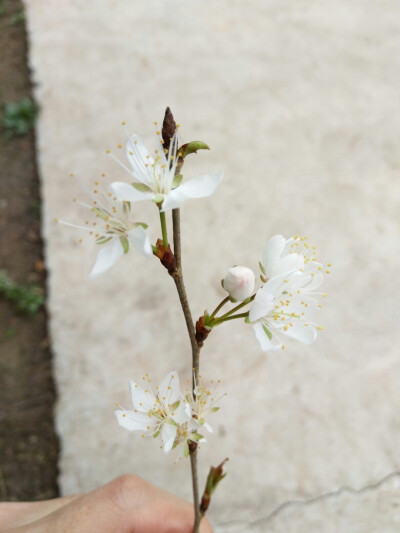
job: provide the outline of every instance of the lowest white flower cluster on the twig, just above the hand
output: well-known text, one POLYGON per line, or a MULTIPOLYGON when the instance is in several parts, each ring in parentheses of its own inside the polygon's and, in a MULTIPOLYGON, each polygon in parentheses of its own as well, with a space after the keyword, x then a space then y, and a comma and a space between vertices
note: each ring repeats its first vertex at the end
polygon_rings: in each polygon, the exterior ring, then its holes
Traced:
POLYGON ((176 371, 168 374, 155 392, 147 374, 142 380, 142 385, 130 383, 133 410, 119 406, 115 411, 119 424, 128 431, 140 431, 144 438, 161 436, 165 453, 179 448, 179 457, 188 457, 188 442, 205 442, 202 428, 212 433, 205 418, 218 410, 218 399, 204 387, 197 387, 194 395, 184 396, 176 371))

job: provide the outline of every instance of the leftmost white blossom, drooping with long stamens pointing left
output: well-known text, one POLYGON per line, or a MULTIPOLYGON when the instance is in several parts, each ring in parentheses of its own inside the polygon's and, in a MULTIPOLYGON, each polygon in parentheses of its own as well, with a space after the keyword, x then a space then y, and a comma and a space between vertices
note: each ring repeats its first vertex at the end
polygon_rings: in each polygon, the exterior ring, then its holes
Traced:
POLYGON ((87 192, 92 203, 78 203, 90 211, 92 220, 87 219, 85 225, 71 224, 63 220, 59 222, 89 232, 96 244, 102 245, 90 273, 91 278, 111 268, 128 252, 129 244, 133 244, 142 255, 152 255, 150 239, 145 231, 147 225, 132 220, 130 202, 120 202, 111 192, 105 192, 98 181, 94 183, 93 191, 87 192))

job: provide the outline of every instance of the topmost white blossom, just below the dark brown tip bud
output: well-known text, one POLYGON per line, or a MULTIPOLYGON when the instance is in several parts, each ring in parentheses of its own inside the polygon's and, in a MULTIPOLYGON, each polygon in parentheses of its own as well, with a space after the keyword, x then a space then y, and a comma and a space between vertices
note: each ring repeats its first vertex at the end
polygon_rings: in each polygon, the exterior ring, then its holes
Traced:
MULTIPOLYGON (((111 191, 119 200, 140 202, 153 200, 161 205, 161 211, 181 207, 189 198, 204 198, 214 193, 222 179, 222 172, 211 172, 181 183, 182 176, 175 175, 179 160, 178 136, 173 136, 166 159, 160 142, 154 157, 140 137, 132 135, 127 142, 126 155, 131 169, 120 163, 136 180, 135 183, 114 182, 111 191)), ((118 160, 117 160, 118 161, 118 160)), ((119 161, 118 161, 119 162, 119 161)))

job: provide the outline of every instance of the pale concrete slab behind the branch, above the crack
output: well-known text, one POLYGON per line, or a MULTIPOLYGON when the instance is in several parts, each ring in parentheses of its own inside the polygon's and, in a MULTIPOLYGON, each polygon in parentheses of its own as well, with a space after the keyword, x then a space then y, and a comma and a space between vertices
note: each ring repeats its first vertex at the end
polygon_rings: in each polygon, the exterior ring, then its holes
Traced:
MULTIPOLYGON (((211 517, 250 523, 284 502, 363 487, 398 470, 398 2, 26 6, 41 107, 62 491, 133 471, 190 497, 188 464, 174 465, 155 443, 123 432, 113 415, 115 401, 129 404, 129 378, 149 372, 158 381, 174 367, 190 375, 173 284, 156 261, 134 254, 89 281, 92 243, 79 245, 80 235, 53 223, 80 222, 70 172, 87 185, 101 172, 125 179, 105 149, 124 140, 122 120, 151 142, 165 105, 182 123, 183 141, 212 147, 185 165, 185 177, 225 172, 210 200, 182 212, 195 316, 221 299, 228 267, 257 268, 274 233, 308 234, 333 263, 325 331, 312 347, 288 343, 285 352, 262 354, 245 324, 207 340, 203 374, 223 379, 228 397, 201 448, 201 479, 209 464, 230 457, 211 517)), ((156 214, 142 205, 137 212, 154 241, 156 214)), ((291 505, 264 531, 391 532, 398 494, 392 478, 361 495, 291 505)))

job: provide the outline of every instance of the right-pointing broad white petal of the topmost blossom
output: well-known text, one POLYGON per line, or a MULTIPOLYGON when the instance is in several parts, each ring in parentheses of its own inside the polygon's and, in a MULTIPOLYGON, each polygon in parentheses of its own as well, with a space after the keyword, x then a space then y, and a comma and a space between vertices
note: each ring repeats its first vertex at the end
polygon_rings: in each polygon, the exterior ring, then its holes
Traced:
POLYGON ((162 211, 180 207, 188 198, 205 198, 211 196, 222 180, 219 171, 197 176, 169 192, 164 199, 162 211))

